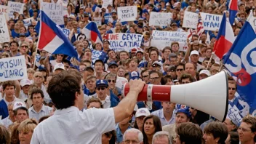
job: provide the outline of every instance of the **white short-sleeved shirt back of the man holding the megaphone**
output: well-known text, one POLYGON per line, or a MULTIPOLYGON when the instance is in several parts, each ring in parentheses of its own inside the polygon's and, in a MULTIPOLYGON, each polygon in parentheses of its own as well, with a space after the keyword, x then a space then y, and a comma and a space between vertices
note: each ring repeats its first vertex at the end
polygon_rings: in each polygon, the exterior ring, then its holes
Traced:
POLYGON ((79 111, 70 107, 55 111, 34 129, 31 143, 101 143, 101 135, 115 129, 113 108, 79 111))

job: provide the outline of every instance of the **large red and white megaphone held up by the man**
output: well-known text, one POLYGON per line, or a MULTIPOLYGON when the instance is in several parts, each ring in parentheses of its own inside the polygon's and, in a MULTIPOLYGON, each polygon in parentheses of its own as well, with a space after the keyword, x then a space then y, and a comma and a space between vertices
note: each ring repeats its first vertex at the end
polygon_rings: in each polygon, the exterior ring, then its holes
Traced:
MULTIPOLYGON (((129 92, 129 83, 125 84, 122 90, 122 94, 126 96, 129 92)), ((190 84, 145 84, 137 101, 168 101, 188 105, 225 121, 228 111, 228 74, 221 71, 190 84)))

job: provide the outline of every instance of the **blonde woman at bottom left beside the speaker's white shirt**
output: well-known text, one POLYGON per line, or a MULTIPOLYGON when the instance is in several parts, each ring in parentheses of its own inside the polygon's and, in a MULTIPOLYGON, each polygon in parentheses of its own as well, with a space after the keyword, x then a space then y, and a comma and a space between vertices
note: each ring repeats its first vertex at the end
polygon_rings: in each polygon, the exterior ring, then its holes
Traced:
POLYGON ((20 123, 20 126, 17 128, 19 132, 20 144, 29 144, 31 143, 31 138, 33 135, 33 129, 37 126, 37 121, 35 119, 26 119, 20 123))

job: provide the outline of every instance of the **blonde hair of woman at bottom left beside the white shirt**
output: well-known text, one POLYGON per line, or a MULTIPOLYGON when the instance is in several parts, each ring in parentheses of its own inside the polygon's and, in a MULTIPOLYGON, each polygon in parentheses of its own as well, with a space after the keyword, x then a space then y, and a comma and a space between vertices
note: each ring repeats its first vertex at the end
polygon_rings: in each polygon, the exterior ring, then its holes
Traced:
POLYGON ((20 123, 20 126, 17 128, 19 132, 33 132, 33 129, 37 126, 36 119, 25 119, 20 123))

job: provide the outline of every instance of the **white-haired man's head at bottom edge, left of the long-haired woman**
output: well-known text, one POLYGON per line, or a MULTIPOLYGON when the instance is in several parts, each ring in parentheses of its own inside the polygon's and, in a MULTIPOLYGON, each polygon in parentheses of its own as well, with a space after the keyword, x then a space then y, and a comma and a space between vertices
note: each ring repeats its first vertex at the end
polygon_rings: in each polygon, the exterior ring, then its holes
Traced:
POLYGON ((127 129, 123 136, 124 143, 143 144, 143 133, 139 129, 127 129))

